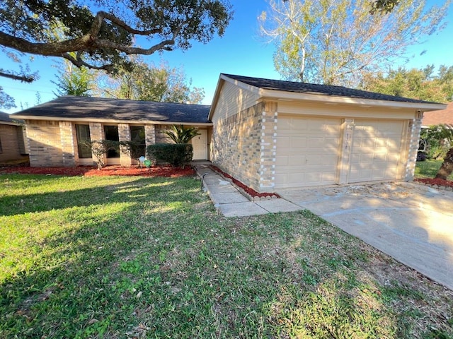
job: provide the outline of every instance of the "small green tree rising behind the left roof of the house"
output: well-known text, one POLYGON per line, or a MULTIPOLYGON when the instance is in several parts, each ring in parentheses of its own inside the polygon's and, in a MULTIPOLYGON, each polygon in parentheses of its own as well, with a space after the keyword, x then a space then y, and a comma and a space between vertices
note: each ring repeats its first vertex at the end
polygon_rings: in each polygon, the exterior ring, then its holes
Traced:
POLYGON ((58 73, 58 81, 52 81, 58 88, 55 95, 77 95, 79 97, 91 96, 94 75, 88 68, 85 66, 76 68, 69 62, 65 62, 64 66, 60 67, 58 73))

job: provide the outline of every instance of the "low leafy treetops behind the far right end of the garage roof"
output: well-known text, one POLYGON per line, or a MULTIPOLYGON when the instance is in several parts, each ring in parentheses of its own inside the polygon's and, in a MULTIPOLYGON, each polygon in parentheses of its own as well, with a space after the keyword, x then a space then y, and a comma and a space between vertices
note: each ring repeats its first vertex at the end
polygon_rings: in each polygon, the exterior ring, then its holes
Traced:
POLYGON ((409 70, 398 67, 386 74, 367 73, 360 88, 418 100, 450 102, 453 100, 453 66, 442 65, 437 73, 434 65, 409 70))

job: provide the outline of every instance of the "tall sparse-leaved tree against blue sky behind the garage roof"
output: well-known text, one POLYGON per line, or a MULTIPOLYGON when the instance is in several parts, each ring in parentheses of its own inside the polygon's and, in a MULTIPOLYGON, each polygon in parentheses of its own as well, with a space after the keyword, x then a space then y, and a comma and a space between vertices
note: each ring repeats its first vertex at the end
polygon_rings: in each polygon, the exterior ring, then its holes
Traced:
POLYGON ((369 15, 369 0, 268 0, 260 32, 275 42, 275 69, 287 80, 355 87, 365 72, 389 66, 407 47, 443 28, 451 0, 401 1, 369 15))

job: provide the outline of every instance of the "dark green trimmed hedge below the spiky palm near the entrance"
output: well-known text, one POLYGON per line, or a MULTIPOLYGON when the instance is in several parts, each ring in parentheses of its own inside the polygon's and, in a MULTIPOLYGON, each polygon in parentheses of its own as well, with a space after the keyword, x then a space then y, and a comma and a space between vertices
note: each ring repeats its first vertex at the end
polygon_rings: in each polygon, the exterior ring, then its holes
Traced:
POLYGON ((193 145, 190 143, 156 143, 147 147, 149 159, 168 162, 172 167, 185 167, 193 158, 193 145))

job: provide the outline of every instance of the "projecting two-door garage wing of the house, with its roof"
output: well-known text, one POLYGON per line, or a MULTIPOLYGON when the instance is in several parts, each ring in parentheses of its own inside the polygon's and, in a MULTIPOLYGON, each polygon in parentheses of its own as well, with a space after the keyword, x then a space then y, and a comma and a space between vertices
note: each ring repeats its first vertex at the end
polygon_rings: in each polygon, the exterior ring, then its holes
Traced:
POLYGON ((259 192, 413 179, 422 113, 445 105, 221 74, 212 163, 259 192))

